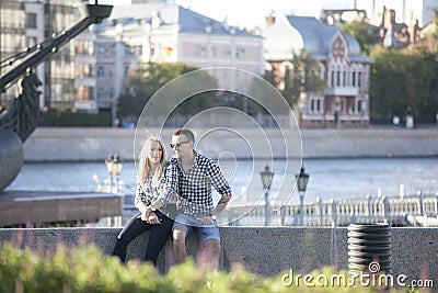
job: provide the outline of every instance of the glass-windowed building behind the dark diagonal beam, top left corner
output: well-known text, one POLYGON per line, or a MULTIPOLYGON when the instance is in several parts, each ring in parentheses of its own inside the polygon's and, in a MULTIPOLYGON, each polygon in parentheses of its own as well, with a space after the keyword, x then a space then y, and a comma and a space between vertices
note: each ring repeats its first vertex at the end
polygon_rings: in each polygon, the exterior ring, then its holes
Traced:
MULTIPOLYGON (((77 5, 65 1, 0 1, 0 76, 20 65, 37 46, 44 46, 81 19, 77 5), (28 54, 27 54, 28 52, 28 54), (4 61, 4 63, 3 63, 4 61)), ((35 74, 43 82, 42 108, 72 109, 74 102, 74 46, 70 42, 43 64, 35 74)), ((21 91, 19 82, 1 92, 5 108, 21 91)))

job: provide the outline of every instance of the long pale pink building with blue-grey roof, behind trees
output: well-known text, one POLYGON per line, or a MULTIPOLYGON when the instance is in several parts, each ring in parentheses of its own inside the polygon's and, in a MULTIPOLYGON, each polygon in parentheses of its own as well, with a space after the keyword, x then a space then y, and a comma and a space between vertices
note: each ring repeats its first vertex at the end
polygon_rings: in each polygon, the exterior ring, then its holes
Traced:
MULTIPOLYGON (((79 42, 85 42, 82 38, 79 42)), ((94 103, 87 102, 85 97, 95 97, 99 111, 111 109, 114 114, 117 98, 129 90, 129 76, 141 63, 178 61, 198 68, 232 67, 264 74, 261 36, 174 3, 114 7, 111 18, 96 25, 93 44, 95 58, 81 67, 95 67, 94 90, 89 78, 77 79, 77 84, 90 84, 82 87, 88 95, 78 95, 83 110, 89 111, 94 103)), ((218 80, 229 84, 232 78, 218 80)))

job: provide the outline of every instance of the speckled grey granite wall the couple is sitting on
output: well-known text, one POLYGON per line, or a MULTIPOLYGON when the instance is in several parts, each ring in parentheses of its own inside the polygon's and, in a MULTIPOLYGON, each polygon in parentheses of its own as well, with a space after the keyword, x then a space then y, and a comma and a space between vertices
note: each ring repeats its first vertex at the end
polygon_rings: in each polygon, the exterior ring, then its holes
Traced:
MULTIPOLYGON (((95 244, 103 253, 110 255, 119 228, 42 228, 0 229, 0 243, 19 241, 16 245, 48 249, 58 243, 74 245, 79 240, 95 244)), ((325 266, 348 270, 347 228, 301 227, 221 227, 221 268, 229 269, 234 262, 263 275, 278 275, 284 271, 307 273, 325 266)), ((149 232, 137 237, 128 247, 128 259, 142 259, 149 232)), ((160 253, 159 268, 169 268, 170 244, 160 253)), ((404 280, 433 280, 438 282, 438 228, 391 229, 392 275, 404 280)), ((193 257, 199 244, 194 234, 187 239, 188 253, 193 257)), ((330 278, 330 277, 328 277, 330 278)), ((301 280, 302 281, 302 280, 301 280)), ((278 279, 278 282, 281 282, 278 279)), ((281 283, 279 283, 280 285, 281 283)))

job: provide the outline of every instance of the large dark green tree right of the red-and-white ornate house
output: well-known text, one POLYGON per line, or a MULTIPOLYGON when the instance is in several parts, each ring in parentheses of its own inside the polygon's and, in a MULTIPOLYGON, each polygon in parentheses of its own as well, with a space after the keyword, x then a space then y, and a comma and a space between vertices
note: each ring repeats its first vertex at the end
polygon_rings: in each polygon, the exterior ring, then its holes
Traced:
POLYGON ((371 120, 390 121, 407 109, 417 122, 438 112, 438 63, 433 55, 377 47, 371 53, 371 120))

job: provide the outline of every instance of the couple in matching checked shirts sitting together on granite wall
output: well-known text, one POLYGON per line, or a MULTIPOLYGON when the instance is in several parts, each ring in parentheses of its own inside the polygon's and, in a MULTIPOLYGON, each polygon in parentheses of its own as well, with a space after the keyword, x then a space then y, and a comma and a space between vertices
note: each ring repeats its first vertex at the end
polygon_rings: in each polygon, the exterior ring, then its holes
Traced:
POLYGON ((143 143, 135 199, 139 214, 117 236, 113 256, 125 261, 128 244, 150 229, 145 260, 157 266, 172 235, 174 259, 180 263, 186 258, 186 236, 195 230, 209 259, 208 269, 217 270, 221 250, 217 217, 231 199, 231 188, 218 164, 194 150, 192 131, 176 131, 170 145, 175 155, 166 160, 160 139, 149 137, 143 143), (221 195, 216 206, 212 187, 221 195))

